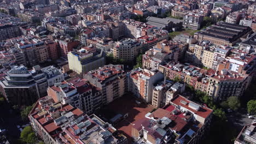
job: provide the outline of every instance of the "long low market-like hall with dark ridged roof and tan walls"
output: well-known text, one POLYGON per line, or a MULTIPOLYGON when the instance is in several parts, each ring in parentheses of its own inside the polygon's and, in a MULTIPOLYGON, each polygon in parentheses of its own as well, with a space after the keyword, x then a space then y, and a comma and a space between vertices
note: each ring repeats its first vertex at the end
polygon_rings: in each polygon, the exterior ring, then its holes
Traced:
POLYGON ((250 27, 236 25, 233 23, 219 22, 200 32, 194 33, 194 38, 197 41, 208 40, 216 45, 232 46, 240 38, 246 38, 252 32, 250 27))

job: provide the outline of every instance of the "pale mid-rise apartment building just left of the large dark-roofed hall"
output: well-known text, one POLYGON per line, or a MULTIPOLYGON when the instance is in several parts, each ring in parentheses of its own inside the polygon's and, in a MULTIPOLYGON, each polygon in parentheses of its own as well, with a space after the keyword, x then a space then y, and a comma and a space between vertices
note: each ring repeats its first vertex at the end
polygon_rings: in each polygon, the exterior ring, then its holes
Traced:
POLYGON ((183 27, 200 29, 203 22, 203 15, 189 13, 183 17, 183 27))

